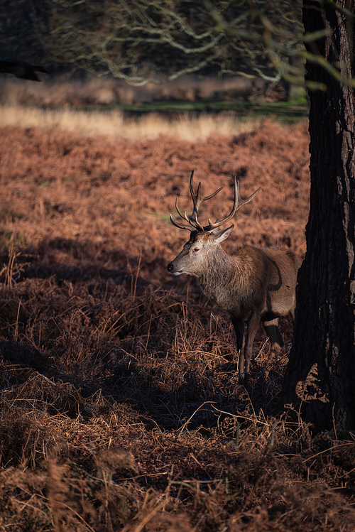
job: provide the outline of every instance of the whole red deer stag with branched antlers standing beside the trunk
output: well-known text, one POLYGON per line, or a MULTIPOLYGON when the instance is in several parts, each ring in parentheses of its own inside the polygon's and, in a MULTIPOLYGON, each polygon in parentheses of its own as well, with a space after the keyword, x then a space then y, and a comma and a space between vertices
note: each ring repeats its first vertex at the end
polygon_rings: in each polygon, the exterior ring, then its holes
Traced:
POLYGON ((200 279, 202 291, 214 303, 228 310, 236 332, 236 345, 239 351, 239 373, 249 374, 253 340, 262 320, 266 334, 271 340, 271 352, 266 363, 266 374, 273 355, 283 347, 283 338, 278 329, 278 317, 290 314, 294 319, 295 288, 297 271, 301 259, 287 249, 257 249, 243 246, 228 255, 219 245, 229 237, 234 225, 218 229, 234 217, 242 205, 249 203, 259 192, 242 200, 239 194, 239 182, 234 177, 234 205, 230 214, 221 220, 202 225, 198 219, 198 210, 202 202, 214 197, 203 197, 201 183, 195 195, 193 190, 193 170, 190 177, 190 193, 193 201, 192 215, 182 214, 175 202, 178 215, 191 227, 178 224, 170 215, 170 221, 180 229, 191 231, 190 240, 186 242, 178 256, 168 264, 168 271, 173 276, 187 273, 200 279), (246 339, 244 342, 244 323, 246 339), (245 367, 244 367, 245 359, 245 367))

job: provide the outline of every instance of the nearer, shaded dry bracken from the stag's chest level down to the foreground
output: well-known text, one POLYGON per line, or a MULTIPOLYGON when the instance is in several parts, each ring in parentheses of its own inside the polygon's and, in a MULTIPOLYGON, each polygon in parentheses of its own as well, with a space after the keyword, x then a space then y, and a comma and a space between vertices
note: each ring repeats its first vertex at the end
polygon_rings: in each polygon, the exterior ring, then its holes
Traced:
POLYGON ((2 529, 354 528, 355 445, 273 417, 287 352, 266 380, 261 330, 246 391, 199 293, 21 275, 0 291, 2 529))

